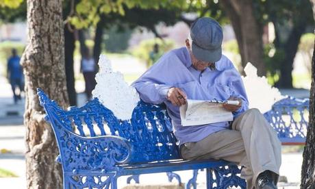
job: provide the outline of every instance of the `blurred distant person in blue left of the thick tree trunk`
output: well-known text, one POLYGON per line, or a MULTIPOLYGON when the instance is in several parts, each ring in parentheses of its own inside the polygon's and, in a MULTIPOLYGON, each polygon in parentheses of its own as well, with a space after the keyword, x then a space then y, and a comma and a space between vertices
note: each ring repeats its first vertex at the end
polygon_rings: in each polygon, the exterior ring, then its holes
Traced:
POLYGON ((12 87, 14 103, 17 103, 18 100, 21 100, 21 92, 24 91, 24 76, 23 67, 20 64, 20 57, 17 55, 16 49, 12 49, 7 68, 7 76, 12 87), (16 88, 19 90, 18 93, 16 93, 16 88))

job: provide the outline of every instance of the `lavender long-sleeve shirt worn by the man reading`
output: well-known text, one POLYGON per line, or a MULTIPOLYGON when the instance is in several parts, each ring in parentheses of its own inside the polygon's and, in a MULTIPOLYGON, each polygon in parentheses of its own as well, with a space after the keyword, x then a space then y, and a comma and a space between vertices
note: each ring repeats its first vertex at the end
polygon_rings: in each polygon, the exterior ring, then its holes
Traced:
POLYGON ((172 118, 174 134, 179 144, 197 142, 210 134, 227 129, 229 123, 220 122, 208 125, 181 125, 179 107, 166 99, 168 89, 181 88, 188 99, 195 100, 226 100, 229 97, 242 99, 242 107, 234 112, 234 118, 248 109, 247 95, 242 79, 231 61, 222 55, 216 62, 216 69, 206 68, 197 71, 192 67, 190 54, 186 47, 166 53, 132 86, 147 103, 165 103, 169 116, 172 118))

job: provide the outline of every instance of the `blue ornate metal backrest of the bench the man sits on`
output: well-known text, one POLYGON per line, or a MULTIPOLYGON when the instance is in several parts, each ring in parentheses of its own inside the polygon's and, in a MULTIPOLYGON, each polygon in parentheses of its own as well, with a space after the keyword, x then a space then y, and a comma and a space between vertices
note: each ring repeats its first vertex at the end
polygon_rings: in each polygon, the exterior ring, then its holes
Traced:
POLYGON ((98 99, 81 108, 62 110, 42 90, 38 90, 40 103, 49 112, 49 121, 56 137, 64 136, 64 130, 83 137, 121 136, 132 145, 130 162, 151 162, 179 159, 177 140, 172 132, 171 118, 166 109, 140 101, 131 120, 121 121, 98 99), (53 118, 51 118, 53 117, 53 118))

